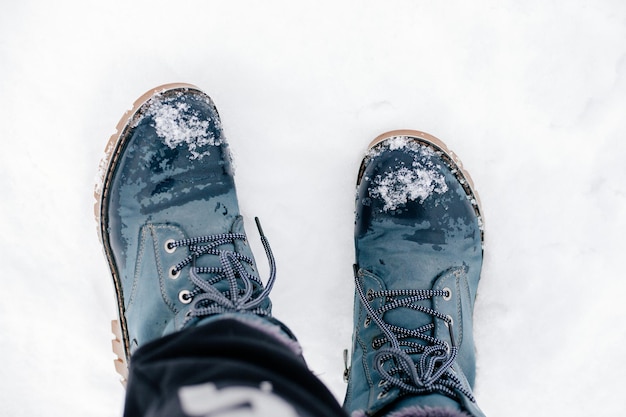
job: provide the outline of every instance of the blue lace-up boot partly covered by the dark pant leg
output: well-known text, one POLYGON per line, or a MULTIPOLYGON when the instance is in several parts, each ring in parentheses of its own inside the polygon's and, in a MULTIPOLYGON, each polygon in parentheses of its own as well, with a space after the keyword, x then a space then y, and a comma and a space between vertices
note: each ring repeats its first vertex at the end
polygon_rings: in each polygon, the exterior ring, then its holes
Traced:
POLYGON ((123 377, 131 354, 166 334, 218 315, 273 322, 272 252, 259 225, 270 262, 265 287, 239 215, 228 145, 206 94, 188 84, 144 94, 109 140, 101 177, 95 215, 115 284, 114 351, 123 377))

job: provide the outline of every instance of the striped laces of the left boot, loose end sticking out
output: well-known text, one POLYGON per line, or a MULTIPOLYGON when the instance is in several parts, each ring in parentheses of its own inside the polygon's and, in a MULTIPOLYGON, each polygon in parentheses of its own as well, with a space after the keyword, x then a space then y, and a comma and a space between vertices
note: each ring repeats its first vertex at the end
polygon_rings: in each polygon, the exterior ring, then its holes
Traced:
POLYGON ((243 233, 223 233, 216 235, 200 236, 189 239, 171 240, 167 243, 169 250, 187 246, 190 254, 176 264, 172 274, 178 274, 187 265, 191 264, 189 279, 194 285, 193 291, 184 290, 180 293, 181 301, 191 303, 183 326, 194 317, 205 317, 214 314, 228 312, 251 312, 260 316, 271 316, 269 307, 262 306, 267 300, 276 278, 276 263, 269 242, 263 233, 261 223, 255 218, 261 237, 261 243, 265 249, 269 266, 270 276, 267 285, 263 286, 261 279, 249 273, 244 265, 254 266, 254 260, 238 252, 220 249, 220 246, 234 244, 235 241, 245 241, 243 233), (196 266, 196 260, 203 255, 215 255, 219 257, 219 267, 196 266), (211 274, 210 278, 203 278, 200 274, 211 274), (216 287, 221 281, 227 282, 227 289, 216 287))

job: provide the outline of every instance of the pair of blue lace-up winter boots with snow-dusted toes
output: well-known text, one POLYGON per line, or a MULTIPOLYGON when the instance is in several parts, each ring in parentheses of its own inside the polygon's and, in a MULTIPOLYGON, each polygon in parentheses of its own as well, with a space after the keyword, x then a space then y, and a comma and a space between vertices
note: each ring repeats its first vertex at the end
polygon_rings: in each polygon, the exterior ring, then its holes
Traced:
MULTIPOLYGON (((296 344, 271 316, 273 255, 257 221, 270 262, 263 284, 217 110, 197 87, 153 89, 124 115, 95 214, 117 295, 122 375, 146 343, 225 317, 296 344)), ((472 393, 482 243, 478 196, 442 142, 394 131, 370 144, 357 179, 347 412, 483 415, 472 393)))

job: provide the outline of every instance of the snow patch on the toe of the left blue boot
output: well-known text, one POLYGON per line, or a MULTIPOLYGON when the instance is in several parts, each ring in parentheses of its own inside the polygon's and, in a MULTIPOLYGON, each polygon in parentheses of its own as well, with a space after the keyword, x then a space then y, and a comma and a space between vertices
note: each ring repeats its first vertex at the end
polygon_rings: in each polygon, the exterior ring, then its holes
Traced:
POLYGON ((163 142, 170 149, 187 145, 192 160, 210 154, 208 149, 201 151, 201 148, 221 144, 221 140, 210 129, 211 119, 200 119, 200 113, 192 110, 187 103, 155 100, 148 115, 152 116, 156 134, 163 142))

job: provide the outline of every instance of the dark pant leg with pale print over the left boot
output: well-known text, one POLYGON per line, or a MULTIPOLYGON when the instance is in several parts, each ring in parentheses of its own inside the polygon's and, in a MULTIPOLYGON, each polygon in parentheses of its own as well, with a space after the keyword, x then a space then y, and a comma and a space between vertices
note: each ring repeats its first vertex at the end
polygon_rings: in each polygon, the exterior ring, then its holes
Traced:
MULTIPOLYGON (((181 388, 207 383, 215 388, 206 396, 209 402, 220 390, 236 387, 229 392, 269 393, 290 404, 299 416, 345 417, 300 355, 267 332, 227 318, 171 334, 137 350, 130 362, 124 416, 189 416, 182 409, 181 388)), ((252 402, 265 398, 253 397, 252 402)), ((248 406, 245 400, 220 405, 248 406)))

